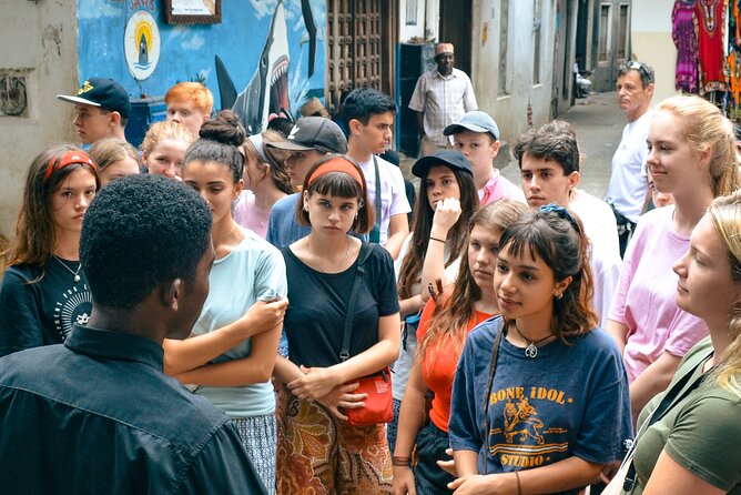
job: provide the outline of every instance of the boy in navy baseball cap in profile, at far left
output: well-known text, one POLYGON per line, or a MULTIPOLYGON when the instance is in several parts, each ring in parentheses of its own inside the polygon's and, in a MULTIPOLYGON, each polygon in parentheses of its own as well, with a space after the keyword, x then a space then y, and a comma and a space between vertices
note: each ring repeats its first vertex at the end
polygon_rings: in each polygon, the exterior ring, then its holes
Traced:
POLYGON ((90 78, 75 94, 58 94, 57 98, 74 103, 72 124, 82 144, 92 144, 103 138, 126 140, 124 129, 131 102, 126 90, 114 80, 90 78))

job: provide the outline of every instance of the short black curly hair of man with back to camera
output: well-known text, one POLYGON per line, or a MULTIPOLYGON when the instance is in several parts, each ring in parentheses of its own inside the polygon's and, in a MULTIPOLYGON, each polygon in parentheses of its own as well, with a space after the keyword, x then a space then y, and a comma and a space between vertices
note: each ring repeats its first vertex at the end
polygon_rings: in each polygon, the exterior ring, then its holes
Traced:
POLYGON ((160 175, 130 175, 88 209, 80 262, 95 304, 132 309, 162 283, 192 283, 211 249, 211 210, 191 188, 160 175))

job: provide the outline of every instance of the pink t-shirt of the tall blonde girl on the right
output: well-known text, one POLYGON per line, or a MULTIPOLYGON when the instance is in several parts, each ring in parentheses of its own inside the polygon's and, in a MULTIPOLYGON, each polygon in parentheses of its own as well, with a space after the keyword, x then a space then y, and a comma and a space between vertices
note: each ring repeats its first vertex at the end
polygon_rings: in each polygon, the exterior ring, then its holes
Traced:
POLYGON ((690 238, 672 230, 673 213, 670 205, 640 218, 610 307, 610 320, 628 326, 623 360, 631 382, 663 352, 681 357, 708 335, 704 322, 674 302, 678 276, 671 265, 690 238))

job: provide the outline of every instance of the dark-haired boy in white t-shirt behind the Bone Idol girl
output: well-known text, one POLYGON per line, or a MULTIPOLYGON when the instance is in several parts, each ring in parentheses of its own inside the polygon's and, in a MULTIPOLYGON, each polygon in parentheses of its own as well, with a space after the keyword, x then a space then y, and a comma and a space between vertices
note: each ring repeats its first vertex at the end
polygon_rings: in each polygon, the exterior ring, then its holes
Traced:
POLYGON ((554 121, 528 131, 515 145, 515 158, 520 166, 522 191, 531 209, 556 203, 581 220, 591 243, 593 307, 603 325, 622 264, 618 230, 610 206, 577 189, 580 180, 579 147, 573 130, 564 121, 554 121))

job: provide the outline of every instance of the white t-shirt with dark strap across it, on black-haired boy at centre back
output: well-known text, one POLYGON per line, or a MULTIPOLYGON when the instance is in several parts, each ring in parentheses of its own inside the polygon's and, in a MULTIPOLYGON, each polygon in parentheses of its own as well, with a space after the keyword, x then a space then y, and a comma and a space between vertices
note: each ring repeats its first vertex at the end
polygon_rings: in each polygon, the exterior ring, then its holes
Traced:
MULTIPOLYGON (((384 245, 388 240, 388 224, 392 216, 407 214, 412 211, 412 208, 409 206, 409 201, 406 199, 404 176, 399 168, 382 158, 375 156, 375 159, 378 162, 378 176, 380 178, 379 244, 384 245)), ((366 186, 368 188, 368 206, 375 209, 376 171, 373 158, 367 162, 358 162, 358 165, 361 165, 361 170, 365 175, 366 186)))

